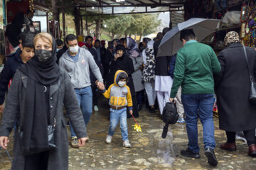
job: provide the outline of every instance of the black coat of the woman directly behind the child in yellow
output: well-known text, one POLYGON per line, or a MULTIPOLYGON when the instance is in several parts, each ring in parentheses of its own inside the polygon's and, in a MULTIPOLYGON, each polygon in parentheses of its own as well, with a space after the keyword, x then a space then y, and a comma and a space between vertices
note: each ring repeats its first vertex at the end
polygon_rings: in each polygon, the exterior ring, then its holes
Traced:
POLYGON ((122 57, 117 58, 117 61, 112 60, 110 64, 110 73, 107 75, 107 88, 114 83, 114 74, 117 72, 117 70, 123 70, 124 72, 127 72, 129 79, 127 86, 129 86, 129 89, 131 90, 132 96, 135 96, 135 89, 134 89, 134 83, 132 79, 132 73, 134 72, 134 66, 132 63, 132 59, 129 57, 129 55, 124 53, 122 57))

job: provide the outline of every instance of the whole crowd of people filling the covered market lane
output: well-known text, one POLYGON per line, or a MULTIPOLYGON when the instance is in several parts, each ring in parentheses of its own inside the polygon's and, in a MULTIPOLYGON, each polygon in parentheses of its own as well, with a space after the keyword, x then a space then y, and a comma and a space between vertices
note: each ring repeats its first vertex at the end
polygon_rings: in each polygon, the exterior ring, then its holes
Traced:
POLYGON ((63 42, 48 33, 21 33, 16 40, 19 47, 6 56, 0 75, 0 111, 4 111, 0 145, 6 149, 14 128, 12 169, 68 169, 63 104, 69 118, 71 147, 78 148, 89 141, 87 125, 92 110, 101 109, 99 95, 110 99, 107 144, 112 142, 119 122, 122 144, 131 147, 127 118, 139 117, 144 101, 149 113, 156 113, 158 107, 160 115, 167 102, 175 101, 178 123, 186 122, 188 134, 188 148, 181 150, 181 155, 201 157, 197 129, 200 118, 205 154, 208 163, 216 166, 216 94, 220 129, 228 138, 220 148, 235 151, 235 133, 243 131, 248 154, 256 157, 256 108, 249 100, 253 79, 249 73, 256 73, 256 50, 243 49, 238 33, 230 32, 225 36, 227 47, 217 57, 210 46, 196 41, 193 30, 186 29, 181 31, 183 47, 176 55, 157 57, 169 30, 164 28, 154 40, 144 38, 139 44, 132 38, 114 39, 107 49, 105 40, 93 44, 91 36, 84 41, 82 36, 70 34, 63 42), (147 100, 143 100, 144 94, 147 100), (49 140, 49 134, 54 140, 49 140))

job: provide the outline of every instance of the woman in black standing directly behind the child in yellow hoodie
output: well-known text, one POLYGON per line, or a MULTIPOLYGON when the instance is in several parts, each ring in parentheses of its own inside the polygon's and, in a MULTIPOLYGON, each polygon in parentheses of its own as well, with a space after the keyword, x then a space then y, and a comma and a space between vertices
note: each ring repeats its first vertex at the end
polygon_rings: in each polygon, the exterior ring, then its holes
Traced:
MULTIPOLYGON (((132 59, 129 57, 129 54, 125 52, 124 45, 117 45, 116 47, 117 55, 115 55, 114 59, 110 63, 110 73, 107 75, 107 87, 114 83, 114 74, 117 72, 117 70, 123 70, 128 74, 128 82, 127 86, 129 86, 129 89, 132 94, 132 108, 133 108, 133 115, 135 118, 139 117, 138 113, 138 106, 137 106, 137 100, 136 100, 136 94, 134 89, 134 82, 132 79, 132 73, 134 72, 134 67, 132 63, 132 59), (122 50, 122 56, 119 57, 119 50, 122 50), (117 57, 118 56, 118 57, 117 57)), ((132 118, 132 115, 130 115, 127 112, 127 118, 132 118)))

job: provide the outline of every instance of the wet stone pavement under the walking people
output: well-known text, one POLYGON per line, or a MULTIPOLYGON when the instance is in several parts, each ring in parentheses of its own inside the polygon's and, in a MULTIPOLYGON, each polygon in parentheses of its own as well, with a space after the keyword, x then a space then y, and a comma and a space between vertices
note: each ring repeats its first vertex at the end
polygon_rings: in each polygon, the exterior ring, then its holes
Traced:
MULTIPOLYGON (((218 118, 215 124, 215 154, 218 166, 209 166, 203 152, 203 130, 201 123, 198 125, 198 142, 201 147, 201 159, 192 159, 181 156, 181 149, 186 149, 188 140, 186 124, 176 123, 169 126, 166 139, 161 138, 164 126, 159 118, 159 111, 149 113, 147 108, 139 112, 137 122, 142 127, 142 132, 133 130, 133 119, 128 119, 130 149, 122 147, 122 136, 119 125, 116 128, 111 144, 105 143, 109 120, 107 101, 99 105, 100 111, 92 113, 92 118, 87 127, 90 141, 85 147, 73 149, 70 147, 69 169, 237 169, 256 170, 256 158, 247 156, 247 145, 237 141, 237 151, 228 152, 220 149, 220 144, 225 142, 225 132, 218 129, 218 118)), ((200 122, 198 120, 198 122, 200 122)), ((70 134, 69 130, 68 133, 70 134)), ((12 135, 9 152, 12 156, 12 135)), ((11 163, 3 149, 0 150, 0 169, 11 169, 11 163)))

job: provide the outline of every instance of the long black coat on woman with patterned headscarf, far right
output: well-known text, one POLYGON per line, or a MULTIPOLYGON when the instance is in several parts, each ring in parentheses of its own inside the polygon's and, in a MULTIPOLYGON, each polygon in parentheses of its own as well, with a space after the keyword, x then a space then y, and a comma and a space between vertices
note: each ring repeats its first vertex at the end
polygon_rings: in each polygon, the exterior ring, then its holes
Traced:
MULTIPOLYGON (((256 51, 246 47, 250 72, 256 75, 256 51)), ((245 52, 233 43, 218 54, 221 71, 214 75, 220 129, 230 132, 256 128, 256 106, 249 101, 250 76, 245 52)))

